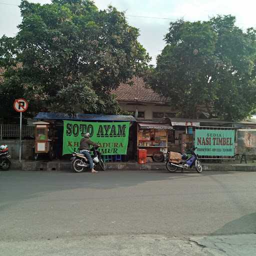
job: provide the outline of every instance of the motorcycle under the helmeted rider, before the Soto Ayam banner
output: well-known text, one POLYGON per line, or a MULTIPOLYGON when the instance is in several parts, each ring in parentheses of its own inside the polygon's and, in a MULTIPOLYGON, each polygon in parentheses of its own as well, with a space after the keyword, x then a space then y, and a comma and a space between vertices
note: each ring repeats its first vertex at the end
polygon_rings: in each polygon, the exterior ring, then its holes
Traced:
MULTIPOLYGON (((105 164, 98 151, 98 146, 93 146, 90 150, 93 153, 93 167, 99 167, 101 170, 105 170, 105 164)), ((82 172, 84 169, 89 168, 89 161, 84 154, 73 152, 72 155, 70 160, 72 161, 72 169, 74 172, 82 172)))

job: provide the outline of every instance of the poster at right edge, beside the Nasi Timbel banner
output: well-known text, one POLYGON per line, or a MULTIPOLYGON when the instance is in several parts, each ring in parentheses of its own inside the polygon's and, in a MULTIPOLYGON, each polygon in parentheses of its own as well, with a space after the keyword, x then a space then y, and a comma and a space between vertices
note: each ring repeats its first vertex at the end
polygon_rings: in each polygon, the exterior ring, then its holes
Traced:
POLYGON ((237 153, 256 154, 256 129, 237 130, 237 153))

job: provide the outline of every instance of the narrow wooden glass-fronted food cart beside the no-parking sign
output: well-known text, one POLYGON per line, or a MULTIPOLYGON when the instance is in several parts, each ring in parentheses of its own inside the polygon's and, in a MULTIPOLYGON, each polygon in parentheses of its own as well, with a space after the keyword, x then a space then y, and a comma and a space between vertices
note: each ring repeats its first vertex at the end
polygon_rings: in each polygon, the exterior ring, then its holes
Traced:
POLYGON ((34 159, 37 160, 40 154, 48 155, 53 159, 55 157, 53 125, 44 121, 33 122, 33 124, 35 125, 34 159))

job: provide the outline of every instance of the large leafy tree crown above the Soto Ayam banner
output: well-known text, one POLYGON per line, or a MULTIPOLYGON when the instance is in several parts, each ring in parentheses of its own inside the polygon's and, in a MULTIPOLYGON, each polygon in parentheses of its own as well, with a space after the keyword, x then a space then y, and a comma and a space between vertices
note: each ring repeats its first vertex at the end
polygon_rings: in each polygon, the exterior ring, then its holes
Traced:
MULTIPOLYGON (((149 60, 138 29, 128 25, 124 13, 111 6, 98 10, 90 0, 43 5, 22 0, 19 7, 17 35, 0 38, 4 83, 16 78, 32 111, 118 112, 110 91, 149 60), (22 67, 10 68, 17 63, 22 67)), ((0 86, 1 94, 5 87, 0 86)))

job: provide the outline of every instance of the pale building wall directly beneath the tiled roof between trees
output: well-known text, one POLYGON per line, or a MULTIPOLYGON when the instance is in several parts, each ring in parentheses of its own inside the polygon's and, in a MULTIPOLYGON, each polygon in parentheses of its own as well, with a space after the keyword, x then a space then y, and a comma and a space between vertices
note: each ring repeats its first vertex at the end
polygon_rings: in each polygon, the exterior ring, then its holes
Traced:
MULTIPOLYGON (((124 102, 119 102, 121 108, 125 111, 129 111, 129 112, 135 112, 136 108, 138 109, 138 111, 142 111, 144 112, 144 118, 142 119, 155 119, 153 118, 153 112, 168 112, 171 113, 173 111, 171 111, 169 106, 162 106, 162 105, 156 105, 155 103, 146 103, 146 105, 136 105, 136 104, 127 104, 124 102)), ((161 118, 159 118, 160 120, 161 118)))

